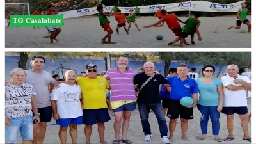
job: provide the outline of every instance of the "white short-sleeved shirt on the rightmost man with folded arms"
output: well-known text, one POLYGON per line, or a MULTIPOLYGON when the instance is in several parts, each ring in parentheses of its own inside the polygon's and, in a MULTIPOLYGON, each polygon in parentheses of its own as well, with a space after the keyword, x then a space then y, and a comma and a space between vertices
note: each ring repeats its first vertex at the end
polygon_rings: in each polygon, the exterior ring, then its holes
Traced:
MULTIPOLYGON (((247 83, 251 83, 250 79, 246 76, 241 76, 237 74, 236 79, 242 79, 243 81, 247 83)), ((223 76, 221 77, 222 84, 224 86, 224 101, 223 101, 223 106, 228 107, 228 106, 234 106, 234 107, 239 107, 239 106, 247 106, 247 99, 246 99, 246 90, 228 90, 226 86, 232 84, 233 86, 243 86, 243 84, 234 83, 234 78, 230 76, 223 76)))

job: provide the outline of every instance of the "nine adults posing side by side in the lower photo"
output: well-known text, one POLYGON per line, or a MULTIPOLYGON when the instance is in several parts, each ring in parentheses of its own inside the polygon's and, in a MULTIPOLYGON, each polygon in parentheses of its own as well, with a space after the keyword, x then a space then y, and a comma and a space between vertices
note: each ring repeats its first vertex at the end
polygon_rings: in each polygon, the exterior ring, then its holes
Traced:
POLYGON ((46 123, 53 117, 60 125, 59 137, 61 143, 67 142, 67 128, 70 128, 72 143, 77 143, 77 125, 84 124, 86 143, 91 143, 92 125, 98 125, 100 143, 104 140, 105 125, 111 118, 108 107, 115 115, 113 129, 115 138, 113 144, 120 142, 131 144, 128 139, 131 111, 140 113, 141 125, 145 141, 152 140, 148 121, 150 110, 156 115, 161 134, 161 141, 170 144, 177 119, 181 121, 181 138, 188 141, 186 132, 188 120, 193 119, 193 108, 200 111, 200 127, 202 135, 197 140, 204 140, 207 134, 209 118, 216 141, 234 140, 234 113, 239 115, 243 128, 243 140, 251 141, 248 133, 248 109, 246 90, 251 89, 250 79, 237 74, 237 65, 228 65, 227 76, 217 79, 212 77, 215 67, 206 65, 202 68, 204 77, 197 80, 188 76, 188 65, 180 64, 170 68, 168 77, 156 72, 154 63, 148 61, 143 65, 143 71, 136 74, 127 67, 129 58, 119 56, 115 68, 110 68, 106 74, 97 76, 97 65, 88 63, 87 76, 77 78, 74 70, 65 72, 65 81, 56 81, 49 72, 42 70, 45 59, 33 56, 30 64, 32 69, 15 68, 11 71, 10 81, 6 81, 5 125, 6 143, 17 142, 17 132, 20 131, 22 143, 43 143, 46 123), (49 85, 54 85, 51 97, 49 85), (159 86, 161 86, 159 90, 159 86), (107 100, 106 89, 111 96, 107 100), (165 89, 165 90, 164 90, 165 89), (136 100, 136 91, 138 98, 136 100), (198 93, 200 96, 198 96, 198 93), (188 108, 180 104, 182 97, 192 97, 194 103, 188 108), (164 99, 163 99, 164 98, 164 99), (81 100, 83 106, 81 107, 81 100), (199 99, 199 100, 198 100, 199 99), (162 106, 163 105, 163 106, 162 106), (227 138, 220 138, 220 112, 227 115, 227 138), (169 136, 165 116, 170 118, 169 136), (122 130, 122 134, 120 131, 122 130))

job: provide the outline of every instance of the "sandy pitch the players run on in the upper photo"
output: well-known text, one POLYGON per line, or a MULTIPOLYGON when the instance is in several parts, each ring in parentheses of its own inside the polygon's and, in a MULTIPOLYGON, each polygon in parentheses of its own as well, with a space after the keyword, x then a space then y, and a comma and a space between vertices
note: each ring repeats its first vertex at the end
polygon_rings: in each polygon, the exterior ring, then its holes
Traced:
MULTIPOLYGON (((188 17, 179 17, 185 21, 188 17)), ((176 38, 173 32, 164 24, 163 27, 143 28, 143 25, 157 22, 157 18, 140 17, 136 19, 141 31, 138 31, 132 24, 127 35, 123 28, 120 28, 120 34, 115 31, 117 22, 113 16, 108 18, 114 33, 111 41, 116 44, 102 44, 101 39, 106 35, 106 31, 100 26, 99 19, 96 16, 78 17, 74 19, 65 19, 65 25, 58 35, 59 42, 49 44, 49 38, 43 38, 47 35, 46 28, 6 28, 5 45, 6 48, 137 48, 137 47, 157 47, 157 48, 179 48, 179 42, 168 46, 176 38), (163 40, 156 40, 157 35, 163 35, 163 40)), ((248 17, 250 20, 250 16, 248 17)), ((230 29, 229 26, 236 26, 236 16, 232 17, 200 17, 200 34, 202 41, 198 41, 195 35, 195 45, 184 45, 184 48, 251 48, 251 33, 246 33, 247 26, 242 24, 241 29, 230 29), (215 29, 216 33, 214 33, 215 29)), ((128 27, 128 24, 126 24, 128 27)), ((180 23, 180 26, 184 24, 180 23)), ((191 44, 190 36, 186 38, 191 44)), ((207 51, 207 50, 205 50, 207 51)))

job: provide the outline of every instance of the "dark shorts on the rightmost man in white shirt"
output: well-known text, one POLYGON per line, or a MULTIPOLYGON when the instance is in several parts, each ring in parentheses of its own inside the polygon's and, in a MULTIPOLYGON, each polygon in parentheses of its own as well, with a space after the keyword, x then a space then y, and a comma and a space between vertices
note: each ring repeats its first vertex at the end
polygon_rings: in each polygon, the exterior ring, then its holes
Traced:
POLYGON ((245 115, 248 113, 248 108, 247 106, 223 107, 221 113, 224 113, 226 115, 233 115, 234 113, 237 113, 238 115, 245 115))

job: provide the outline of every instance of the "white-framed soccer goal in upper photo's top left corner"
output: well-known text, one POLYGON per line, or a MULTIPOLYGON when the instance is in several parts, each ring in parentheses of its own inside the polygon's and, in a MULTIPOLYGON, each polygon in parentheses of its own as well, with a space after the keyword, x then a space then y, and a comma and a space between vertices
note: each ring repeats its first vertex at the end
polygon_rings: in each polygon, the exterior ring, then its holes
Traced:
POLYGON ((11 15, 30 15, 28 3, 5 3, 5 13, 11 15))

